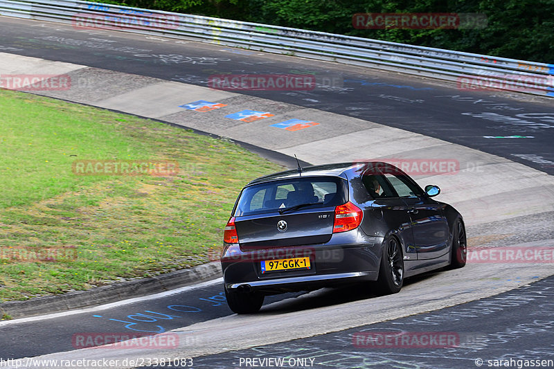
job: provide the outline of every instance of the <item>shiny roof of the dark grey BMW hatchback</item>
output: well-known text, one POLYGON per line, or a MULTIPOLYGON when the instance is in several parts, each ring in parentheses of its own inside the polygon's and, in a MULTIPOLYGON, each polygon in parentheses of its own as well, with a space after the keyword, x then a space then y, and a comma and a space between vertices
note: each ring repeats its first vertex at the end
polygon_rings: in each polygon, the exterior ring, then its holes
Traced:
MULTIPOLYGON (((319 177, 319 176, 328 176, 328 177, 342 177, 347 179, 346 172, 357 169, 359 170, 360 165, 379 165, 384 164, 379 161, 349 161, 346 163, 331 163, 331 164, 322 164, 322 165, 310 165, 308 167, 303 167, 302 172, 298 172, 298 169, 285 170, 283 172, 277 172, 269 174, 267 176, 259 177, 250 181, 247 186, 252 186, 258 183, 265 183, 269 181, 278 181, 279 179, 291 179, 291 178, 302 178, 302 177, 319 177)), ((391 165, 391 164, 387 164, 391 165)))

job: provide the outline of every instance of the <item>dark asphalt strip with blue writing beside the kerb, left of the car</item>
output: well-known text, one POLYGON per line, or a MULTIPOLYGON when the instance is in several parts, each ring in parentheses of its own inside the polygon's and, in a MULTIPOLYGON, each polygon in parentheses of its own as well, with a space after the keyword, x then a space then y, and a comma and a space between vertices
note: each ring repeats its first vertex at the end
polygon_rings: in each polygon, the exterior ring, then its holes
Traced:
MULTIPOLYGON (((298 295, 301 293, 271 296, 266 304, 298 295)), ((19 359, 83 348, 78 335, 98 332, 157 334, 233 314, 225 302, 222 278, 198 287, 186 287, 177 294, 136 300, 107 308, 81 309, 78 314, 62 314, 55 318, 1 322, 2 357, 19 359)))

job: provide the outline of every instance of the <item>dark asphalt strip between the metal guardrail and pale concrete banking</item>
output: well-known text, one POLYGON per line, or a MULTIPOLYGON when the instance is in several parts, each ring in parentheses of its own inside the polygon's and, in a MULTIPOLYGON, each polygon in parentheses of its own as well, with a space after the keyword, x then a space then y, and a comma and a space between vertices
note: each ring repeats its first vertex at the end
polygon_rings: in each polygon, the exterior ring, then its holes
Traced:
POLYGON ((322 85, 313 91, 241 93, 418 132, 554 174, 552 99, 519 101, 504 97, 508 93, 460 91, 456 84, 431 84, 429 80, 354 66, 114 31, 75 31, 71 26, 48 22, 2 17, 0 30, 0 52, 204 87, 210 75, 223 73, 313 74, 322 85), (505 121, 474 117, 483 113, 505 121))

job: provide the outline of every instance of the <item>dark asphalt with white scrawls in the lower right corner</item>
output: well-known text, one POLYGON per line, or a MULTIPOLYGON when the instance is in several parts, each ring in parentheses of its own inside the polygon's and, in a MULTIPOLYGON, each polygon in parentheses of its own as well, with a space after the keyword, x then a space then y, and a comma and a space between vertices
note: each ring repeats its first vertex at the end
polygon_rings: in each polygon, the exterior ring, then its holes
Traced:
MULTIPOLYGON (((246 366, 247 359, 256 358, 261 363, 263 359, 279 357, 285 359, 285 368, 296 363, 310 363, 305 365, 310 368, 478 368, 476 363, 480 359, 484 367, 490 366, 489 360, 510 359, 515 362, 512 366, 524 366, 524 360, 554 359, 553 298, 554 278, 548 277, 492 298, 435 312, 196 358, 194 368, 240 368, 246 366), (410 342, 415 337, 420 345, 425 343, 422 337, 426 334, 429 342, 435 334, 436 342, 434 347, 403 347, 402 339, 387 342, 382 338, 387 335, 394 338, 401 332, 410 342), (368 341, 364 334, 370 334, 373 341, 368 341), (454 345, 441 345, 439 334, 450 336, 454 345)), ((305 309, 305 306, 298 302, 296 308, 305 309)))

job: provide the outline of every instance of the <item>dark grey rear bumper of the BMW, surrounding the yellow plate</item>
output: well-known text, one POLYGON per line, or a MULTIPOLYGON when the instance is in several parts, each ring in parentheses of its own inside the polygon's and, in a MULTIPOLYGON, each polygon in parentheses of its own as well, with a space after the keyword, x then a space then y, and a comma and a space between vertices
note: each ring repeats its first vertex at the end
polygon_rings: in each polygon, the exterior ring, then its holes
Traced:
POLYGON ((382 241, 382 237, 367 236, 357 228, 334 234, 326 244, 236 251, 232 256, 224 255, 221 260, 225 287, 271 294, 377 280, 382 241), (310 258, 310 269, 261 270, 264 260, 301 257, 310 258))

